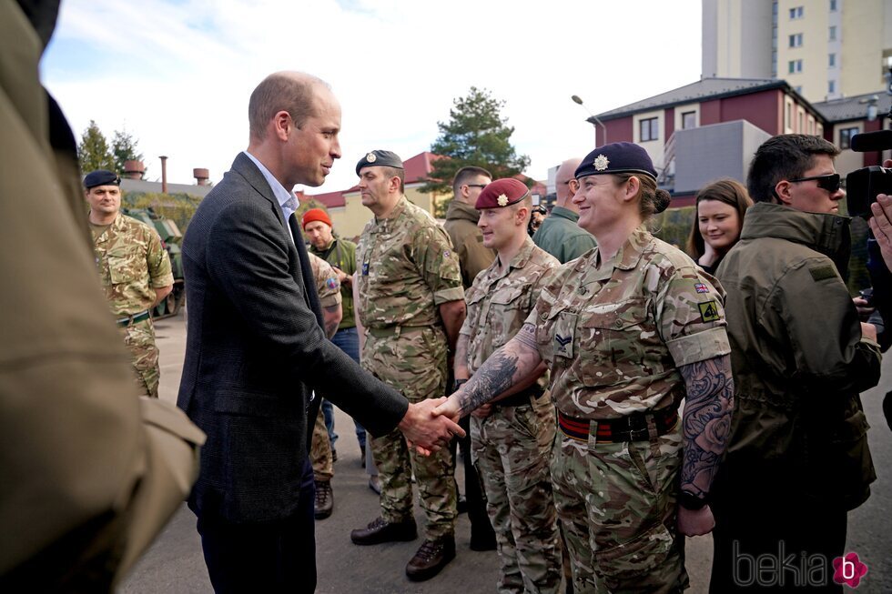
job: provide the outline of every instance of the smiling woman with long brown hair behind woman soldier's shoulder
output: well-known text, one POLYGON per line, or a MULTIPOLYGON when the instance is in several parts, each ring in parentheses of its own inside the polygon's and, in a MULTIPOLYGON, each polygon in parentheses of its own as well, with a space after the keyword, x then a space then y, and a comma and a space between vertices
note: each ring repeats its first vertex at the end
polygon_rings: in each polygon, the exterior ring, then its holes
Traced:
POLYGON ((753 200, 733 179, 720 179, 697 192, 697 216, 687 240, 687 253, 709 274, 735 246, 753 200))

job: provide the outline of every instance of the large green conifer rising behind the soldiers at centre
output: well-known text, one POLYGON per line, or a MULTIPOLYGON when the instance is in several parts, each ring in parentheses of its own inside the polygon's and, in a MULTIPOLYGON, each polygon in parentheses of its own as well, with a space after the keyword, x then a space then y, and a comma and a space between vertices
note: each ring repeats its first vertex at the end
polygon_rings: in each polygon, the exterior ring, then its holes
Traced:
MULTIPOLYGON (((502 117, 504 101, 471 86, 468 96, 452 103, 450 119, 437 123, 440 136, 431 146, 432 153, 445 158, 433 162, 421 191, 450 194, 452 177, 464 166, 485 167, 493 179, 516 176, 530 166, 530 157, 518 155, 511 144, 514 128, 502 117)), ((438 215, 445 214, 445 206, 437 205, 438 215)))

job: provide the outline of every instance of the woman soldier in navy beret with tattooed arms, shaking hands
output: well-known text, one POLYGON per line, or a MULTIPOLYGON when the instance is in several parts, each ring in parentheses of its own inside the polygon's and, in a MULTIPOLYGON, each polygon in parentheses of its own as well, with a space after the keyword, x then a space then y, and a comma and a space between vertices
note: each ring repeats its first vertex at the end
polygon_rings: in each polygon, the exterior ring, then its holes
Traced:
POLYGON ((438 411, 469 414, 544 361, 574 591, 681 591, 679 531, 713 527, 706 496, 730 424, 724 294, 644 227, 669 196, 642 147, 597 148, 575 176, 579 226, 598 247, 556 269, 520 332, 438 411))

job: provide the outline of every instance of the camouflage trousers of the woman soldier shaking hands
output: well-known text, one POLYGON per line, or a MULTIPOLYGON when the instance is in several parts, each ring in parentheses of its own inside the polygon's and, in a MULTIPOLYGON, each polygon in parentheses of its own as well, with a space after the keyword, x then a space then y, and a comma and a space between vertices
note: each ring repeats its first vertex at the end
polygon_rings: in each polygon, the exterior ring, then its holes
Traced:
POLYGON ((675 528, 680 423, 650 441, 588 443, 558 431, 552 482, 573 591, 681 592, 684 536, 675 528))

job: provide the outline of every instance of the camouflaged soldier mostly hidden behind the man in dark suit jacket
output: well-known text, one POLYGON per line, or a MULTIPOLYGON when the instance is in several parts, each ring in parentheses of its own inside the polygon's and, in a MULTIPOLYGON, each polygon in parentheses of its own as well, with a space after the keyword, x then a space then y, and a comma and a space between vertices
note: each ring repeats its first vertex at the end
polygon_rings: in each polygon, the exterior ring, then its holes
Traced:
MULTIPOLYGON (((316 290, 319 292, 319 306, 322 307, 322 319, 325 322, 325 333, 330 338, 338 331, 341 310, 340 281, 338 273, 328 262, 315 254, 308 253, 309 266, 316 279, 316 290)), ((315 515, 316 519, 325 519, 334 509, 334 493, 331 490, 331 478, 334 477, 334 457, 331 454, 329 431, 325 427, 325 416, 319 407, 316 423, 313 426, 313 438, 309 448, 309 461, 313 465, 313 479, 316 481, 315 515)))

